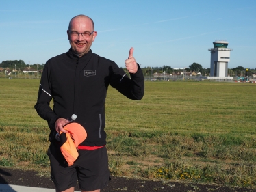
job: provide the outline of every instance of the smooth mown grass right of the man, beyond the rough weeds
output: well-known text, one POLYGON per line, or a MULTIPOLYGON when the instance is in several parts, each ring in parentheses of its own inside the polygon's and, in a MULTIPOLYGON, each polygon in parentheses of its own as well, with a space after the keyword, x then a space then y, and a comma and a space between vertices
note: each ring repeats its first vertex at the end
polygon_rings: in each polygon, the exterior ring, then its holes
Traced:
POLYGON ((255 92, 252 83, 146 82, 139 102, 111 94, 107 120, 112 128, 129 130, 236 134, 242 128, 255 134, 255 92))

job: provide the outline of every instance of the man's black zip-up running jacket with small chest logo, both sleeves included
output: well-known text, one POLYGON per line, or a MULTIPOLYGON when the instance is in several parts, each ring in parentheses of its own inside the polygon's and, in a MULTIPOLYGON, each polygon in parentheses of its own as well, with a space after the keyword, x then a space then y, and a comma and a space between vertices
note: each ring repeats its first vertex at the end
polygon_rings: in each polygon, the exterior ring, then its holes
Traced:
POLYGON ((67 53, 49 59, 42 72, 35 109, 48 122, 50 141, 55 138, 55 121, 58 118, 71 118, 75 114, 75 122, 84 126, 88 133, 81 145, 105 145, 108 85, 133 100, 140 100, 144 95, 144 77, 140 66, 136 74, 130 75, 131 79, 114 61, 100 57, 91 50, 83 57, 77 57, 69 49, 67 53), (49 106, 52 98, 53 109, 49 106))

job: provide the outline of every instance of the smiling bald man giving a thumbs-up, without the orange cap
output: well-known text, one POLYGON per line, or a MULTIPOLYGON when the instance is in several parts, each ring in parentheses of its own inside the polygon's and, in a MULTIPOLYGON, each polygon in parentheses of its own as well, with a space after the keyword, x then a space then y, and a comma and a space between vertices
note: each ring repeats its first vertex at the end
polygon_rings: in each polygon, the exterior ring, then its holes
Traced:
POLYGON ((88 16, 72 18, 67 34, 71 49, 45 64, 35 109, 51 129, 47 154, 56 191, 74 191, 78 180, 82 191, 99 192, 110 179, 104 131, 107 87, 111 85, 127 98, 140 100, 144 95, 143 74, 133 48, 125 60, 131 79, 114 61, 92 53, 90 46, 97 32, 88 16), (49 107, 52 98, 53 109, 49 107), (72 114, 77 115, 75 122, 86 129, 87 137, 78 146, 79 157, 68 166, 55 135, 67 132, 63 127, 72 114))

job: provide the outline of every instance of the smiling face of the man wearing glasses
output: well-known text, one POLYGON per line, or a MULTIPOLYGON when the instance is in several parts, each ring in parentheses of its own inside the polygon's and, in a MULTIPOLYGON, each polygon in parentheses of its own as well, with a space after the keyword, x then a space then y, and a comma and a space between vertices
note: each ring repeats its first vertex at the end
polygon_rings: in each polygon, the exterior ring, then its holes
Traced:
POLYGON ((79 57, 83 56, 84 54, 88 53, 90 50, 90 46, 92 46, 92 42, 94 41, 95 37, 97 36, 97 32, 93 31, 92 22, 89 18, 86 17, 77 17, 71 21, 71 29, 67 31, 68 33, 68 40, 71 44, 71 48, 73 52, 79 57), (73 36, 71 33, 76 32, 79 33, 78 36, 73 36), (89 37, 84 37, 81 33, 92 33, 89 37))

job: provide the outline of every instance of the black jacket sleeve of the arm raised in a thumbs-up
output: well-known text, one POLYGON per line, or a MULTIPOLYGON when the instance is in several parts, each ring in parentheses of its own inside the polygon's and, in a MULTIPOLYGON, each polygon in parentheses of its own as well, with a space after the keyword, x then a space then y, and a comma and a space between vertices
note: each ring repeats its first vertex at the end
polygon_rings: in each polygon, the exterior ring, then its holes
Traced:
POLYGON ((140 65, 138 65, 138 71, 130 76, 131 79, 122 68, 116 65, 110 76, 110 85, 127 98, 141 100, 144 96, 144 77, 140 65))

